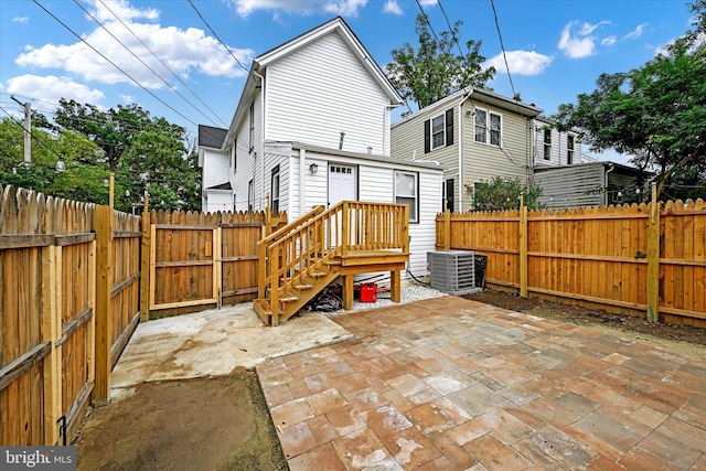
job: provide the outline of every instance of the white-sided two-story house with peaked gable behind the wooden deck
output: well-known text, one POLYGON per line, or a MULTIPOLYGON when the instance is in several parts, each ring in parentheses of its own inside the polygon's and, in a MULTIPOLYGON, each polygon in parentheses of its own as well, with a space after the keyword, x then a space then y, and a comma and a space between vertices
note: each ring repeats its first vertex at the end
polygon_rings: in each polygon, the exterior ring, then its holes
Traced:
POLYGON ((409 204, 410 265, 425 272, 443 168, 391 157, 402 101, 341 18, 255 57, 220 147, 200 142, 204 211, 225 207, 221 192, 235 211, 264 210, 269 195, 290 221, 342 200, 409 204))

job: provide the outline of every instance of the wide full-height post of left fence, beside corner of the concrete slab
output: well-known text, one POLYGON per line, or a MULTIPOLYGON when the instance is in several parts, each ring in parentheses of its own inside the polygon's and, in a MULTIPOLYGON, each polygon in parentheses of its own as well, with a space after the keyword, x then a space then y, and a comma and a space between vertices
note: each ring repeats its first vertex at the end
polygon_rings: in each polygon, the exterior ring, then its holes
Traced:
POLYGON ((96 387, 94 400, 104 406, 110 400, 110 264, 113 240, 113 211, 110 206, 96 206, 96 387))

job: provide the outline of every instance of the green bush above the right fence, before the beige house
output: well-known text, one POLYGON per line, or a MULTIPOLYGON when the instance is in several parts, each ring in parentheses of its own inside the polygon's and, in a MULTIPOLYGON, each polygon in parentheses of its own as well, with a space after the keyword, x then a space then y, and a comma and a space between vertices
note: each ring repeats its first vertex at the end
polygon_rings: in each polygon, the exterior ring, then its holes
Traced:
POLYGON ((517 210, 520 195, 524 195, 524 204, 530 210, 542 208, 542 188, 526 186, 517 178, 494 176, 490 181, 467 185, 466 190, 475 211, 517 210))

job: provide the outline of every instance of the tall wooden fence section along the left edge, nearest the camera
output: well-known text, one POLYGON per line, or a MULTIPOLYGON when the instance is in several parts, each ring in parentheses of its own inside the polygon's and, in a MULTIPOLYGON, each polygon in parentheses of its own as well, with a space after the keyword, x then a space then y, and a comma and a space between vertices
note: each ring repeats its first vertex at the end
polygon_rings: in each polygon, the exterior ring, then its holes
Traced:
POLYGON ((107 376, 137 322, 140 222, 106 206, 0 192, 0 442, 55 445, 60 431, 75 431, 98 385, 107 398, 107 376))

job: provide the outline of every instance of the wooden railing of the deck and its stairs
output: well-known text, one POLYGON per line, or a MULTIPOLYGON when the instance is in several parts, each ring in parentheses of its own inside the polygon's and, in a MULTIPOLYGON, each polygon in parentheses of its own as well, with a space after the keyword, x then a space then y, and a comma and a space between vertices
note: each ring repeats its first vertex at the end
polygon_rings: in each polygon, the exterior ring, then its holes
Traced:
POLYGON ((407 221, 408 207, 399 204, 342 201, 325 212, 312 210, 260 243, 258 297, 277 309, 280 291, 315 278, 352 250, 408 253, 407 221))

